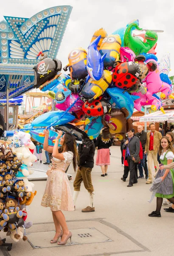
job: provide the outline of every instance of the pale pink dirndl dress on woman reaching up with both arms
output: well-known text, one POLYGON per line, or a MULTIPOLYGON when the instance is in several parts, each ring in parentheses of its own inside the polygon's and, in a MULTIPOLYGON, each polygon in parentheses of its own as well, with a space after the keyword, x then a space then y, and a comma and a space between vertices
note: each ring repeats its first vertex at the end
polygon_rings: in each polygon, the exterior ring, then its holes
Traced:
POLYGON ((51 211, 74 211, 70 183, 65 173, 73 160, 73 152, 62 153, 65 160, 52 159, 52 166, 48 169, 48 178, 41 205, 50 207, 51 211))

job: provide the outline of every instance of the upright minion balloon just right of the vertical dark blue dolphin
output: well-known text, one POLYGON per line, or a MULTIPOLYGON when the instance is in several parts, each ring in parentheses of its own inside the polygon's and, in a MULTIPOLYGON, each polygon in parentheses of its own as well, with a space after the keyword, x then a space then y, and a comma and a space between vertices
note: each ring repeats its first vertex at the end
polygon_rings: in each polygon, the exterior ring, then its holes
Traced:
POLYGON ((119 60, 121 38, 119 35, 108 35, 104 38, 99 52, 101 55, 107 54, 104 59, 104 68, 113 67, 115 61, 119 60))

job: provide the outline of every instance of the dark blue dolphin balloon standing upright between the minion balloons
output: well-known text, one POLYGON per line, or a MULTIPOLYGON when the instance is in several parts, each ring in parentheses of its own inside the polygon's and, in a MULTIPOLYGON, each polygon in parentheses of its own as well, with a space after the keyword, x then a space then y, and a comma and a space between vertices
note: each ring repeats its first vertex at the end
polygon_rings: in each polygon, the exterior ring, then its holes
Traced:
POLYGON ((100 41, 101 35, 98 36, 88 47, 87 53, 87 80, 92 78, 93 80, 100 80, 104 70, 104 59, 107 55, 105 53, 101 56, 97 49, 98 43, 100 41))

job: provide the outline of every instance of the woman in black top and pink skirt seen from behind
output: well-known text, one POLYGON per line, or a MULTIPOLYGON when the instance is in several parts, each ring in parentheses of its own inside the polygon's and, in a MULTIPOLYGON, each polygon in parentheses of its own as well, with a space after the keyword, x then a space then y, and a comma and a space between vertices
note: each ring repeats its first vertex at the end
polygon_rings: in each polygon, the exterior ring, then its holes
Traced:
POLYGON ((101 135, 98 136, 95 147, 97 147, 97 159, 96 159, 96 165, 101 166, 102 175, 101 177, 107 176, 107 168, 108 165, 110 165, 110 151, 109 147, 112 145, 111 140, 109 142, 105 143, 102 141, 101 135))

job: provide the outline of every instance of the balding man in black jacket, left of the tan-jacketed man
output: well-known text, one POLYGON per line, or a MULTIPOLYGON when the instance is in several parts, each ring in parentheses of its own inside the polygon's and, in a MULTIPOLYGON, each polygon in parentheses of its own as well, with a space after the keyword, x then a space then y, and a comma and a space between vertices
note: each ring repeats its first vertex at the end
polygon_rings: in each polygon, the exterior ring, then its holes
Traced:
POLYGON ((141 142, 141 145, 142 145, 142 148, 143 148, 143 159, 138 164, 138 170, 140 172, 140 176, 138 177, 138 179, 142 179, 144 177, 143 168, 144 168, 144 171, 146 169, 146 179, 147 179, 148 178, 148 168, 147 168, 146 155, 144 154, 146 139, 147 139, 147 133, 143 130, 142 125, 138 125, 137 129, 138 129, 138 132, 135 134, 135 136, 139 138, 139 140, 141 142))

